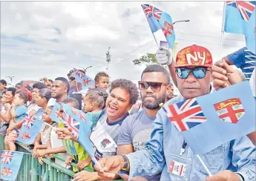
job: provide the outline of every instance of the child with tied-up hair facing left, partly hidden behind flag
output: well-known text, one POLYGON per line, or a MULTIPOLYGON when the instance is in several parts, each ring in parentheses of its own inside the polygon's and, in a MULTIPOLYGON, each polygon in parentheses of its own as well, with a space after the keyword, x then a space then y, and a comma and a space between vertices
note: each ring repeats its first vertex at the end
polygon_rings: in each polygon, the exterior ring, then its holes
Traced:
MULTIPOLYGON (((105 96, 108 93, 105 90, 99 88, 93 88, 88 90, 83 101, 85 103, 84 112, 91 116, 92 121, 94 122, 93 125, 96 124, 96 121, 99 119, 99 116, 102 114, 102 109, 105 107, 105 96)), ((92 125, 92 128, 93 128, 92 125)), ((64 126, 59 126, 59 128, 64 128, 64 126)), ((89 157, 88 153, 82 148, 78 142, 73 142, 73 140, 63 140, 64 145, 66 148, 70 148, 70 144, 75 145, 76 152, 78 155, 70 154, 71 157, 66 159, 66 164, 70 165, 70 162, 75 159, 77 163, 76 167, 80 168, 81 170, 85 167, 92 168, 91 157, 89 157)), ((72 147, 72 146, 71 146, 72 147)), ((68 149, 67 149, 68 151, 68 149)), ((77 171, 76 168, 73 168, 73 171, 77 171)))

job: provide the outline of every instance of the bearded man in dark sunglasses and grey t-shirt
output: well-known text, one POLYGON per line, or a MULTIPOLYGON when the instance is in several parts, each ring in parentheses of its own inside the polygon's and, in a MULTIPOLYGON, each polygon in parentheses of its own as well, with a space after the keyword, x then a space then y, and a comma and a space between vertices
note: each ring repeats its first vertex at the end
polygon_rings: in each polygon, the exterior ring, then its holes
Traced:
MULTIPOLYGON (((122 122, 117 142, 117 154, 130 154, 141 150, 150 139, 153 122, 156 119, 160 104, 165 103, 165 97, 171 91, 170 76, 161 65, 150 65, 142 72, 139 81, 142 111, 128 116, 122 122)), ((160 180, 161 174, 145 177, 147 180, 160 180)), ((128 180, 128 175, 121 175, 128 180)), ((137 178, 142 180, 142 178, 137 178)))

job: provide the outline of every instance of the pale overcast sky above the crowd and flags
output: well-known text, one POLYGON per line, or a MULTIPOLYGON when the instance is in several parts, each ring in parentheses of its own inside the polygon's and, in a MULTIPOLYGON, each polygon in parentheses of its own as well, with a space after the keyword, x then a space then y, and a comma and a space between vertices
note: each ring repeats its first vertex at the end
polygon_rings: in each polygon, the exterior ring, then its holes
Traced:
MULTIPOLYGON (((86 68, 88 75, 106 70, 105 53, 111 47, 108 73, 137 81, 145 66, 133 60, 155 53, 157 45, 137 2, 23 2, 1 1, 1 79, 13 82, 65 76, 70 69, 86 68)), ((188 45, 208 48, 220 59, 223 2, 150 1, 170 14, 178 49, 188 45)), ((159 40, 159 39, 158 39, 159 40)), ((242 35, 225 33, 223 56, 245 46, 242 35)))

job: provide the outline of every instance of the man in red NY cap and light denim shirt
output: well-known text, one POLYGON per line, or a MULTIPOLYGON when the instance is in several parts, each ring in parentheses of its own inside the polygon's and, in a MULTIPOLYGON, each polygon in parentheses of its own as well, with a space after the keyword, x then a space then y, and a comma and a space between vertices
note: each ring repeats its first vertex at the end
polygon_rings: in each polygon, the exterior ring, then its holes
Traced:
MULTIPOLYGON (((177 88, 182 96, 166 104, 211 93, 211 66, 211 53, 205 47, 192 45, 180 50, 174 68, 177 88)), ((154 121, 151 140, 144 149, 128 155, 102 158, 99 163, 103 169, 97 165, 95 168, 110 179, 113 173, 123 170, 129 171, 129 180, 161 171, 160 180, 255 180, 255 146, 246 136, 220 145, 200 157, 212 177, 161 108, 154 121)))

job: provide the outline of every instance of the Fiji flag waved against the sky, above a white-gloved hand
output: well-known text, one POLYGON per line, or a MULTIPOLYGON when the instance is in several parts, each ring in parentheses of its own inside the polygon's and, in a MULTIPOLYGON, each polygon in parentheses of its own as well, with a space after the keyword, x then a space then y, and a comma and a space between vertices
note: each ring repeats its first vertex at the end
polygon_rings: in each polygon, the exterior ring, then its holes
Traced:
POLYGON ((157 7, 151 6, 150 4, 142 4, 142 9, 146 18, 148 19, 148 24, 152 33, 157 32, 157 30, 163 30, 169 47, 173 48, 175 42, 175 33, 171 16, 168 15, 168 13, 157 9, 157 7))

